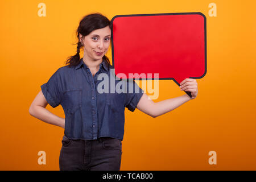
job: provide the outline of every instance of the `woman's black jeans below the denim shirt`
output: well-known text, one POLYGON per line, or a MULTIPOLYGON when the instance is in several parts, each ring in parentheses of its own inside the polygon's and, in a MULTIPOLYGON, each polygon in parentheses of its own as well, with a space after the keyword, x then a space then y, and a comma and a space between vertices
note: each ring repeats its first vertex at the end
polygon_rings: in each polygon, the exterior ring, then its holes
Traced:
POLYGON ((63 136, 60 171, 119 171, 122 141, 110 137, 72 140, 63 136))

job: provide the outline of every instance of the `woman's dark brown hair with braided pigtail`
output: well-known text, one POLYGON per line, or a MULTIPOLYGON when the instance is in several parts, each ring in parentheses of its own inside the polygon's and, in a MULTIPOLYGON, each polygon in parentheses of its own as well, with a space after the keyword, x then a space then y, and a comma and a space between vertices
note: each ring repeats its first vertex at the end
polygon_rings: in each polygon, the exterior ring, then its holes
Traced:
MULTIPOLYGON (((81 34, 82 36, 86 36, 89 35, 90 32, 96 29, 105 28, 106 26, 109 26, 109 28, 112 29, 112 24, 110 23, 110 20, 100 13, 86 15, 80 20, 79 27, 76 30, 76 35, 78 38, 78 42, 76 43, 76 55, 68 57, 68 60, 66 61, 66 64, 68 64, 69 67, 76 66, 80 62, 79 53, 80 48, 83 45, 80 42, 79 34, 81 34)), ((107 56, 104 55, 102 59, 106 60, 110 64, 109 58, 107 56)))

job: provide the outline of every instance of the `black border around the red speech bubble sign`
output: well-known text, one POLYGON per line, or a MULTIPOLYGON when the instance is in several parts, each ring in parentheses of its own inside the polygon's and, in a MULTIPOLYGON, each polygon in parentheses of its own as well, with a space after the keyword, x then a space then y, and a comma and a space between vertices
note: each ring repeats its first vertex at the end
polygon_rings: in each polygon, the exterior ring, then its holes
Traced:
MULTIPOLYGON (((118 17, 126 17, 126 16, 159 16, 159 15, 189 15, 189 14, 197 14, 197 15, 201 15, 204 17, 204 61, 205 61, 205 72, 202 76, 200 77, 189 77, 189 78, 203 78, 205 76, 205 74, 207 73, 207 20, 206 17, 203 13, 201 12, 191 12, 191 13, 160 13, 160 14, 130 14, 130 15, 115 15, 112 20, 110 21, 110 23, 112 24, 112 30, 111 30, 111 39, 112 39, 112 66, 114 68, 114 39, 113 39, 113 22, 115 18, 118 17)), ((121 80, 154 80, 154 78, 126 78, 126 79, 122 79, 121 80)), ((174 82, 176 82, 177 85, 180 86, 179 82, 177 82, 175 80, 175 78, 158 78, 158 80, 174 80, 174 82)))

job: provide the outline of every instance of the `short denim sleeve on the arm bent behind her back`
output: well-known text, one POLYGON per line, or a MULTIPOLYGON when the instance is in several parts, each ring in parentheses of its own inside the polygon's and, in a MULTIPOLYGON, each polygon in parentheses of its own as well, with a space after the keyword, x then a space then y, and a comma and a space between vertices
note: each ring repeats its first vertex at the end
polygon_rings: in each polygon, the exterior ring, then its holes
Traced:
POLYGON ((41 85, 44 97, 53 108, 60 105, 61 101, 61 77, 59 69, 49 78, 48 82, 41 85))

